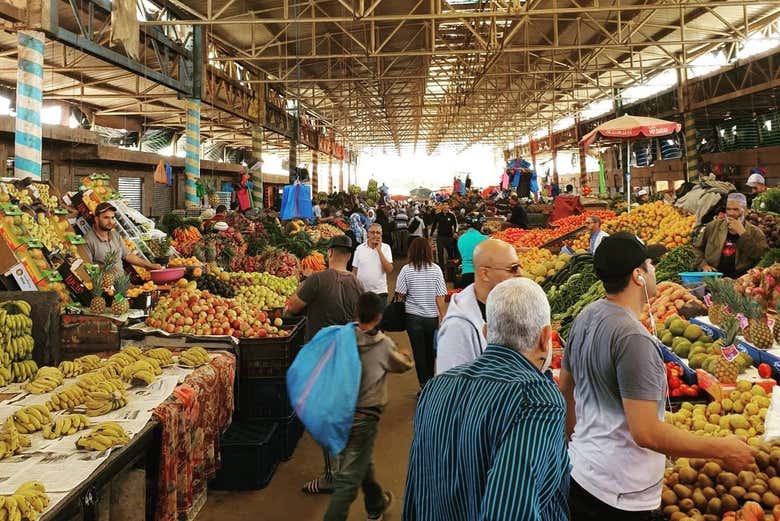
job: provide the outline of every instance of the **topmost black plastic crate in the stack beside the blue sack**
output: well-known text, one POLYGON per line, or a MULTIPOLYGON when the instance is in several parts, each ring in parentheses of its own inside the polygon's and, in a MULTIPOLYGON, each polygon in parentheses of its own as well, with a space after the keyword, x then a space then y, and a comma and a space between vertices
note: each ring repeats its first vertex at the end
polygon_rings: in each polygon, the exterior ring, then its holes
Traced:
POLYGON ((242 338, 238 344, 238 378, 280 378, 303 346, 305 318, 285 318, 286 337, 242 338))

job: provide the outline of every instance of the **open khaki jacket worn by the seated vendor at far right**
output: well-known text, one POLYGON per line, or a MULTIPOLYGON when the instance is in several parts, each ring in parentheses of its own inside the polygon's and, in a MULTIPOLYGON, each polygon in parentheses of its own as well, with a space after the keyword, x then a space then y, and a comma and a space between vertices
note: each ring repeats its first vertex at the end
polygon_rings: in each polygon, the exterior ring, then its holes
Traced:
MULTIPOLYGON (((728 222, 725 219, 715 219, 704 227, 693 243, 696 250, 696 264, 700 268, 703 262, 715 269, 718 268, 726 235, 728 235, 728 222)), ((736 272, 741 274, 754 267, 767 249, 769 246, 764 232, 745 221, 745 233, 737 240, 737 257, 734 261, 736 272)))

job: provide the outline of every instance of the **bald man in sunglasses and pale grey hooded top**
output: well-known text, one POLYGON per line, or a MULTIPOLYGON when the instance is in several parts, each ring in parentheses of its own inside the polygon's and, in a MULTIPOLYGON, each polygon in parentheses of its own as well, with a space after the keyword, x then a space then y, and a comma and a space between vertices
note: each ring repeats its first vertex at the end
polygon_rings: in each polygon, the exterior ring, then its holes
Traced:
POLYGON ((454 295, 439 326, 436 374, 475 360, 487 347, 485 302, 499 283, 520 276, 517 252, 495 239, 474 249, 474 283, 454 295))

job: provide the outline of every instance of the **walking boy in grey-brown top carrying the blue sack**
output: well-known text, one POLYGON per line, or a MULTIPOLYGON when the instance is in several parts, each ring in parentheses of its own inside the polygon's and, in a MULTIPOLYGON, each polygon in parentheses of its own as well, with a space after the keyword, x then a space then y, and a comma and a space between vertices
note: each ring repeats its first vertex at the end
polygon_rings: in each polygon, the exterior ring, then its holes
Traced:
POLYGON ((383 490, 376 480, 374 442, 379 418, 388 402, 387 373, 405 373, 414 363, 408 354, 396 349, 388 336, 377 331, 384 306, 385 300, 372 292, 363 293, 357 302, 360 391, 347 446, 337 457, 338 470, 333 476, 333 496, 325 521, 346 521, 358 488, 363 489, 369 521, 382 519, 393 500, 392 493, 383 490))

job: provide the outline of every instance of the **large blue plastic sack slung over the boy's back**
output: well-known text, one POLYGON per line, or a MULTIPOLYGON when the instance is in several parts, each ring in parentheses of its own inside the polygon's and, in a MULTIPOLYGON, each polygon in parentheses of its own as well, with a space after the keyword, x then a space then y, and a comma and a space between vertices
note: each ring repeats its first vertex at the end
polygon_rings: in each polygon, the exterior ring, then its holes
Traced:
POLYGON ((287 370, 295 414, 331 454, 344 450, 349 440, 361 373, 355 323, 321 329, 287 370))

